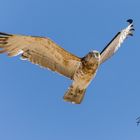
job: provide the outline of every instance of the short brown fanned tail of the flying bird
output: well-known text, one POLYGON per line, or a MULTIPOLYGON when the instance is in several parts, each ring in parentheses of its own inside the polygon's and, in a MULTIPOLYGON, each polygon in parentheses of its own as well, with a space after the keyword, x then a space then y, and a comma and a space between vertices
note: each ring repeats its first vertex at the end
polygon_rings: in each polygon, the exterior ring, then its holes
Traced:
POLYGON ((84 98, 85 91, 86 89, 81 90, 78 87, 74 88, 73 86, 71 86, 63 98, 65 101, 68 101, 74 104, 80 104, 84 98))

